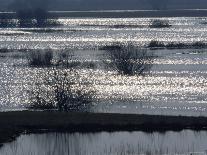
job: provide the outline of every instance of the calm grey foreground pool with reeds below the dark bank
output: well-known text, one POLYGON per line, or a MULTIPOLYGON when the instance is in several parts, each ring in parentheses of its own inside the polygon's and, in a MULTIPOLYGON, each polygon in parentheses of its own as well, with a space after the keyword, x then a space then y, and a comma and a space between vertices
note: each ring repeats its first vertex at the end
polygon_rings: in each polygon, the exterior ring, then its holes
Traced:
POLYGON ((207 152, 207 133, 182 132, 144 133, 73 133, 22 135, 5 144, 3 155, 164 155, 199 154, 207 152))

